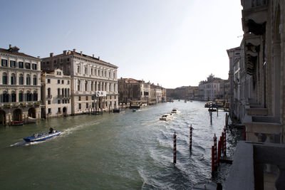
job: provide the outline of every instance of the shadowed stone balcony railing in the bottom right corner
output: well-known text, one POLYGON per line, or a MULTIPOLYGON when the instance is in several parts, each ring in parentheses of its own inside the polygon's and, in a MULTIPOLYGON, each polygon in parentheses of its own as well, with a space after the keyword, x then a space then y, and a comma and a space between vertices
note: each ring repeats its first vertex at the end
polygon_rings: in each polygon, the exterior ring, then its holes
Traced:
POLYGON ((224 189, 284 189, 285 145, 239 142, 224 189))

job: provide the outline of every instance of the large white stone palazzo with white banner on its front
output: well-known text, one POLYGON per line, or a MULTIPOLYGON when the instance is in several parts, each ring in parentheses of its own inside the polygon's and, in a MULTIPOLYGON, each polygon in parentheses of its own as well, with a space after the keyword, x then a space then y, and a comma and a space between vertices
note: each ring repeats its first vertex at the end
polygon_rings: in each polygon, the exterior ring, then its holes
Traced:
POLYGON ((42 70, 63 70, 63 75, 71 75, 71 114, 104 111, 118 107, 118 67, 73 51, 43 58, 42 70))

